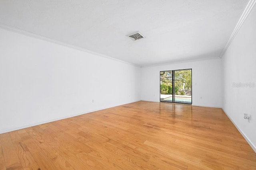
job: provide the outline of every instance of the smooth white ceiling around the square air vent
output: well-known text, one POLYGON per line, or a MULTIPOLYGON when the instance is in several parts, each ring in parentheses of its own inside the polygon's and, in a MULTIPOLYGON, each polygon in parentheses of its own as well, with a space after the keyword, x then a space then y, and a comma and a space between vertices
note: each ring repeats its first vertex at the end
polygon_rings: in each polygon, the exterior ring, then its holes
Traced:
POLYGON ((248 0, 0 0, 0 23, 139 66, 219 57, 248 0), (126 35, 140 31, 145 39, 126 35))

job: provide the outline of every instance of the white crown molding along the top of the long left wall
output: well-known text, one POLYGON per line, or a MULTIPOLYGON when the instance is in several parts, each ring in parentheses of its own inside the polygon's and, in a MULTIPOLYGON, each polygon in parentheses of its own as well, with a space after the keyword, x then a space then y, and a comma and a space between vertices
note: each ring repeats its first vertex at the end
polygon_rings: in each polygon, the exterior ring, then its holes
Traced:
POLYGON ((100 54, 100 53, 96 53, 94 51, 90 51, 88 49, 84 49, 82 47, 77 47, 75 45, 70 45, 68 43, 64 43, 62 41, 57 41, 55 39, 51 39, 51 38, 48 38, 48 37, 44 37, 42 35, 38 35, 36 33, 32 33, 30 31, 25 31, 23 29, 19 29, 19 28, 16 28, 16 27, 12 27, 10 25, 6 25, 6 24, 3 24, 3 23, 0 23, 0 28, 2 29, 5 29, 7 31, 12 31, 12 32, 15 32, 15 33, 19 33, 19 34, 22 34, 22 35, 26 35, 26 36, 29 36, 29 37, 33 37, 33 38, 36 38, 36 39, 41 39, 41 40, 44 40, 44 41, 48 41, 50 43, 55 43, 55 44, 58 44, 58 45, 62 45, 62 46, 65 46, 65 47, 68 47, 68 48, 72 48, 72 49, 76 49, 76 50, 80 50, 80 51, 84 51, 86 53, 90 53, 90 54, 94 54, 94 55, 98 55, 100 57, 104 57, 104 58, 107 58, 107 59, 111 59, 111 60, 114 60, 114 61, 119 61, 119 62, 122 62, 122 63, 126 63, 126 64, 130 64, 130 65, 133 65, 133 66, 137 66, 137 67, 140 67, 139 65, 136 65, 136 64, 132 64, 132 63, 128 63, 126 61, 122 61, 122 60, 118 60, 118 59, 115 59, 115 58, 112 58, 112 57, 109 57, 107 55, 103 55, 103 54, 100 54))

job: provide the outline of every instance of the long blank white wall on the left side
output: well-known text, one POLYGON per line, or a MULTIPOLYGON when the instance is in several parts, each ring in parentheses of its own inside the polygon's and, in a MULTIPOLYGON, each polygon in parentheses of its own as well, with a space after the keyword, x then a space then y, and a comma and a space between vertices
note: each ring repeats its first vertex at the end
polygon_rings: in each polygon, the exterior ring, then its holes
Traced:
POLYGON ((140 78, 137 66, 0 29, 0 133, 139 101, 140 78))

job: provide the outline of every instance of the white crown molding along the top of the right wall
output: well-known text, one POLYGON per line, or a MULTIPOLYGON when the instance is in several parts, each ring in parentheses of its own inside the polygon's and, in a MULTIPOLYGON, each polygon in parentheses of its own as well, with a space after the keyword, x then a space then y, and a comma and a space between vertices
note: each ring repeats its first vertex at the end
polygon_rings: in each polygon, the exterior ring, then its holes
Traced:
POLYGON ((243 12, 242 16, 238 20, 238 23, 236 24, 236 27, 234 28, 232 34, 230 35, 230 37, 228 39, 228 42, 226 43, 224 49, 220 53, 220 58, 222 58, 223 55, 225 54, 225 52, 227 51, 228 47, 232 43, 233 39, 236 37, 236 34, 238 33, 239 29, 242 27, 244 21, 246 20, 247 16, 252 11, 252 8, 254 7, 255 4, 256 4, 256 0, 249 0, 246 8, 244 9, 244 12, 243 12))

